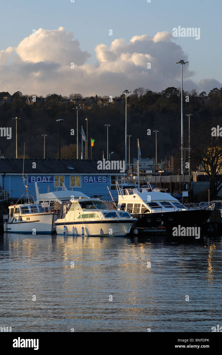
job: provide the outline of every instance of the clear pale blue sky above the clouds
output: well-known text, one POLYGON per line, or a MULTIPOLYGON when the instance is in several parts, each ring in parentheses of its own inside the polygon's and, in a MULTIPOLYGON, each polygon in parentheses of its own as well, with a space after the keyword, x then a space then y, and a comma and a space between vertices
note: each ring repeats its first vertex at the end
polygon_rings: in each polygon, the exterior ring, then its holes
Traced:
MULTIPOLYGON (((94 48, 100 43, 109 47, 116 38, 124 38, 128 43, 134 35, 152 37, 157 32, 172 33, 178 26, 200 27, 199 40, 177 38, 173 41, 188 55, 189 70, 195 72, 193 81, 215 78, 222 82, 221 10, 219 0, 4 1, 1 3, 0 50, 17 47, 33 29, 62 26, 66 32, 73 32, 82 51, 91 54, 86 64, 95 64, 94 48), (109 29, 113 31, 112 36, 109 29)), ((177 58, 180 59, 183 58, 177 58)))

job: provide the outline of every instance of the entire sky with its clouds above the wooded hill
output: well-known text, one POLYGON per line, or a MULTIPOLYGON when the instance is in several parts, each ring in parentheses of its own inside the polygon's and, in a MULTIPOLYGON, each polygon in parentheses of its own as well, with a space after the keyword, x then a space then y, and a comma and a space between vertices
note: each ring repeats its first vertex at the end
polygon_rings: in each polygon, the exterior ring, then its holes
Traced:
POLYGON ((222 87, 221 10, 219 0, 4 1, 0 91, 161 91, 180 86, 183 59, 184 89, 208 93, 222 87), (178 26, 200 38, 173 37, 178 26))

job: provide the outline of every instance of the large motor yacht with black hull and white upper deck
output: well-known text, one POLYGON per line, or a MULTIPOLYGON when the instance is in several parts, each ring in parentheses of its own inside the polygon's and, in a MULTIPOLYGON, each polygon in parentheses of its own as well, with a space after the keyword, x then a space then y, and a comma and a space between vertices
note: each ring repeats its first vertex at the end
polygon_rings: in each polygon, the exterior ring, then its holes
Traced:
POLYGON ((117 208, 138 219, 136 227, 140 232, 172 233, 174 227, 202 227, 209 219, 211 206, 189 208, 167 193, 167 189, 154 188, 148 181, 146 187, 120 189, 117 208))

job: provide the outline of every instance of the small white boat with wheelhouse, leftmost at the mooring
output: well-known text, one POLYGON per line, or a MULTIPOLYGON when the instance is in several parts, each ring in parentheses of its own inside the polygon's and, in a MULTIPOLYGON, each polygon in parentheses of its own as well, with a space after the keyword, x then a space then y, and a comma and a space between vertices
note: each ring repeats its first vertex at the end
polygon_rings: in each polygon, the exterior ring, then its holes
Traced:
POLYGON ((4 231, 32 234, 55 233, 57 217, 58 213, 45 211, 41 204, 13 204, 9 206, 9 215, 4 216, 4 231))

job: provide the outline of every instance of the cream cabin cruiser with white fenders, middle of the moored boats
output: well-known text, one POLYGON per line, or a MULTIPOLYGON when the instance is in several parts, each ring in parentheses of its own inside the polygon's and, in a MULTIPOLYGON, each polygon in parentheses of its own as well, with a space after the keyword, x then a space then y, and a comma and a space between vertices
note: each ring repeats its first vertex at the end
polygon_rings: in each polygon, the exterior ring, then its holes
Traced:
POLYGON ((57 234, 125 236, 137 221, 128 212, 108 209, 99 198, 72 198, 63 202, 55 222, 57 234))

